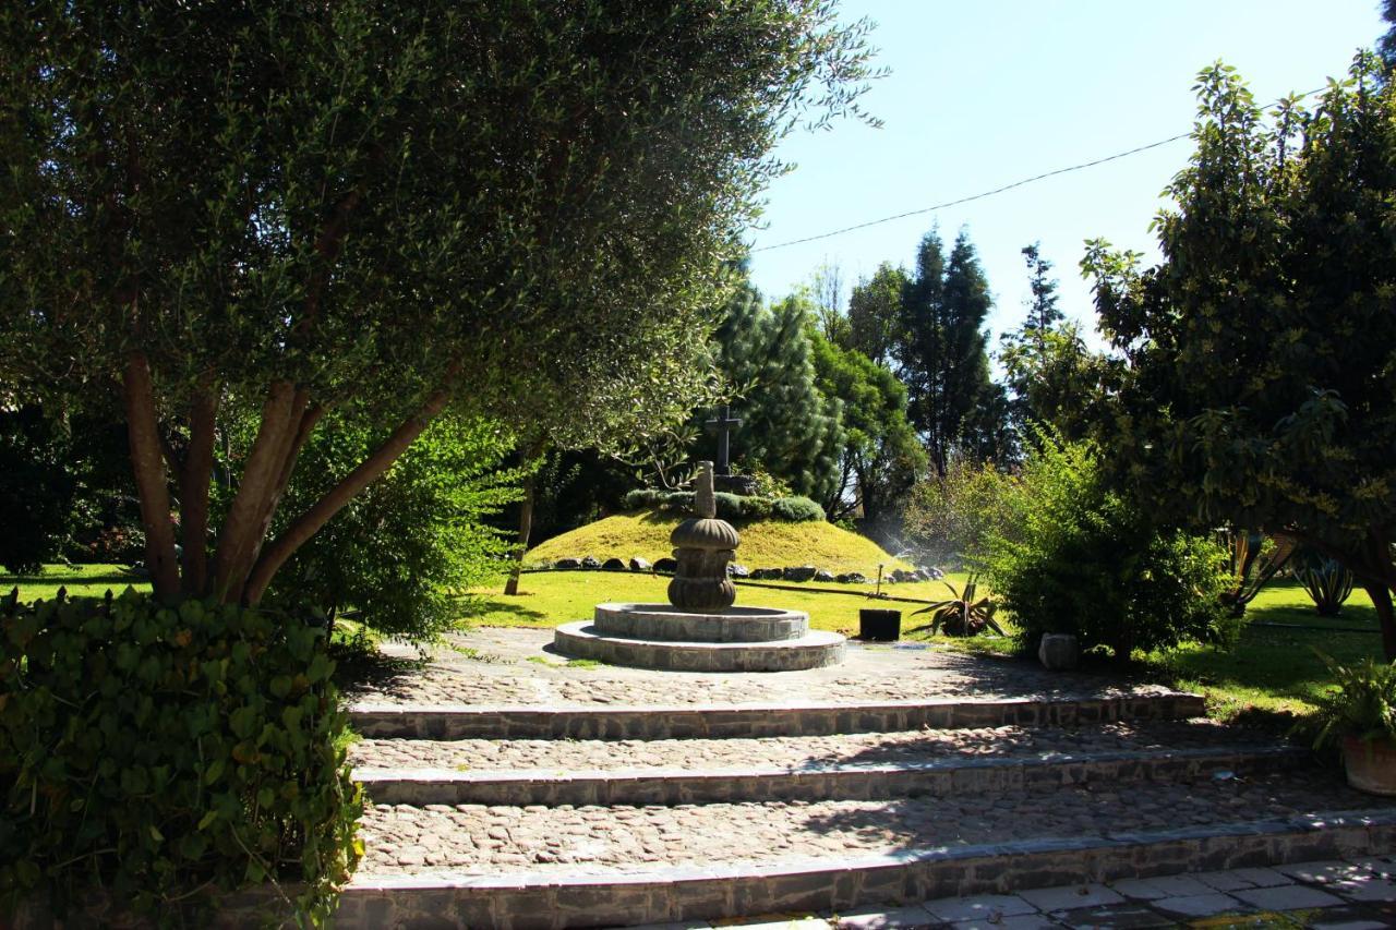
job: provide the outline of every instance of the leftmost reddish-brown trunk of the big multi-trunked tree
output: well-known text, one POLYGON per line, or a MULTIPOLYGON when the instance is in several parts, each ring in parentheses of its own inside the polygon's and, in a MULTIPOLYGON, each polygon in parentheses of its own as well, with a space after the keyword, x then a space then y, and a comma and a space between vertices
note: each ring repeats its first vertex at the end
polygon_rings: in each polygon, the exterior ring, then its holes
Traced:
POLYGON ((145 531, 145 567, 155 596, 172 602, 179 596, 179 566, 174 560, 174 525, 170 522, 170 493, 155 413, 155 388, 145 356, 131 352, 121 381, 126 401, 126 430, 131 445, 131 469, 141 501, 145 531))

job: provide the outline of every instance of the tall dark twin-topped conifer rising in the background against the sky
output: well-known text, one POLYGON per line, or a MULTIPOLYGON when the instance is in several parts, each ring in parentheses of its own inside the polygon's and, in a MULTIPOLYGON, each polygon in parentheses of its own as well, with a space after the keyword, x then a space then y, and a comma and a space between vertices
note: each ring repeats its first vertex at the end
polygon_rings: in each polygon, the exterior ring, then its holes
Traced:
MULTIPOLYGON (((916 275, 903 290, 899 339, 893 349, 906 384, 912 423, 926 440, 931 465, 944 475, 976 412, 993 399, 988 334, 993 306, 988 281, 966 232, 955 237, 949 260, 931 230, 921 240, 916 275)), ((977 423, 983 431, 987 423, 977 423)))

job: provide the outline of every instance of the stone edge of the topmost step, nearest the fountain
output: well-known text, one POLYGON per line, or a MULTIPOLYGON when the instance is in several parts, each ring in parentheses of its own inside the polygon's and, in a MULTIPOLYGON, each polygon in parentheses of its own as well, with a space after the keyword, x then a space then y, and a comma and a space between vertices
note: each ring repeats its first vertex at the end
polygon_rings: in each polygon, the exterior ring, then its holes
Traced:
POLYGON ((893 733, 974 726, 1075 726, 1203 716, 1201 694, 937 698, 866 704, 677 707, 480 707, 359 702, 355 730, 370 739, 653 740, 893 733))

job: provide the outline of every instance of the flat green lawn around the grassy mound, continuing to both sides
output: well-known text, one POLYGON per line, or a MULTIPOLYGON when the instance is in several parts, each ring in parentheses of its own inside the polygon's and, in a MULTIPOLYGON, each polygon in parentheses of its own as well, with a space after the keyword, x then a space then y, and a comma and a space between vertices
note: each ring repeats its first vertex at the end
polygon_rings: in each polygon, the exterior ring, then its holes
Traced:
MULTIPOLYGON (((959 588, 965 575, 951 575, 959 588)), ((127 585, 147 591, 149 585, 126 575, 117 566, 50 566, 39 575, 0 575, 0 588, 18 585, 25 600, 53 598, 59 586, 70 596, 99 598, 112 589, 120 593, 127 585)), ((632 573, 557 571, 525 574, 518 596, 505 598, 501 585, 476 589, 466 602, 465 623, 477 626, 551 627, 592 616, 592 606, 606 600, 664 602, 666 578, 632 573)), ((859 610, 892 607, 902 610, 906 638, 926 640, 926 614, 912 616, 920 606, 870 598, 871 585, 792 585, 794 589, 771 589, 743 584, 737 603, 780 606, 804 610, 817 630, 857 633, 859 610)), ((884 585, 892 598, 924 600, 946 598, 948 588, 937 581, 884 585)), ((1159 651, 1143 658, 1136 670, 1146 677, 1201 691, 1208 695, 1212 714, 1223 719, 1244 716, 1304 716, 1312 711, 1314 698, 1329 683, 1329 673, 1314 649, 1322 649, 1340 662, 1381 655, 1376 612, 1362 591, 1354 591, 1339 617, 1321 617, 1308 595, 1294 581, 1275 581, 1252 602, 1247 612, 1241 644, 1233 651, 1205 645, 1185 645, 1159 651), (1270 626, 1284 624, 1284 626, 1270 626)), ((1009 642, 998 637, 938 641, 969 649, 1007 651, 1009 642)))

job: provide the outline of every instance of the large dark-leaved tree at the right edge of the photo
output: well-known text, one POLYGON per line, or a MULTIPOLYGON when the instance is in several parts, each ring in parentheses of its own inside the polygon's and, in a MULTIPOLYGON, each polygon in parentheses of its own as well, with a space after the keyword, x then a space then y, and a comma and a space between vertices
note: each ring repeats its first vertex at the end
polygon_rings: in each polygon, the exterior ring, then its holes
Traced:
POLYGON ((1396 87, 1375 56, 1269 121, 1199 78, 1163 263, 1090 246, 1120 370, 1114 468, 1163 512, 1283 532, 1361 580, 1396 659, 1396 87))

